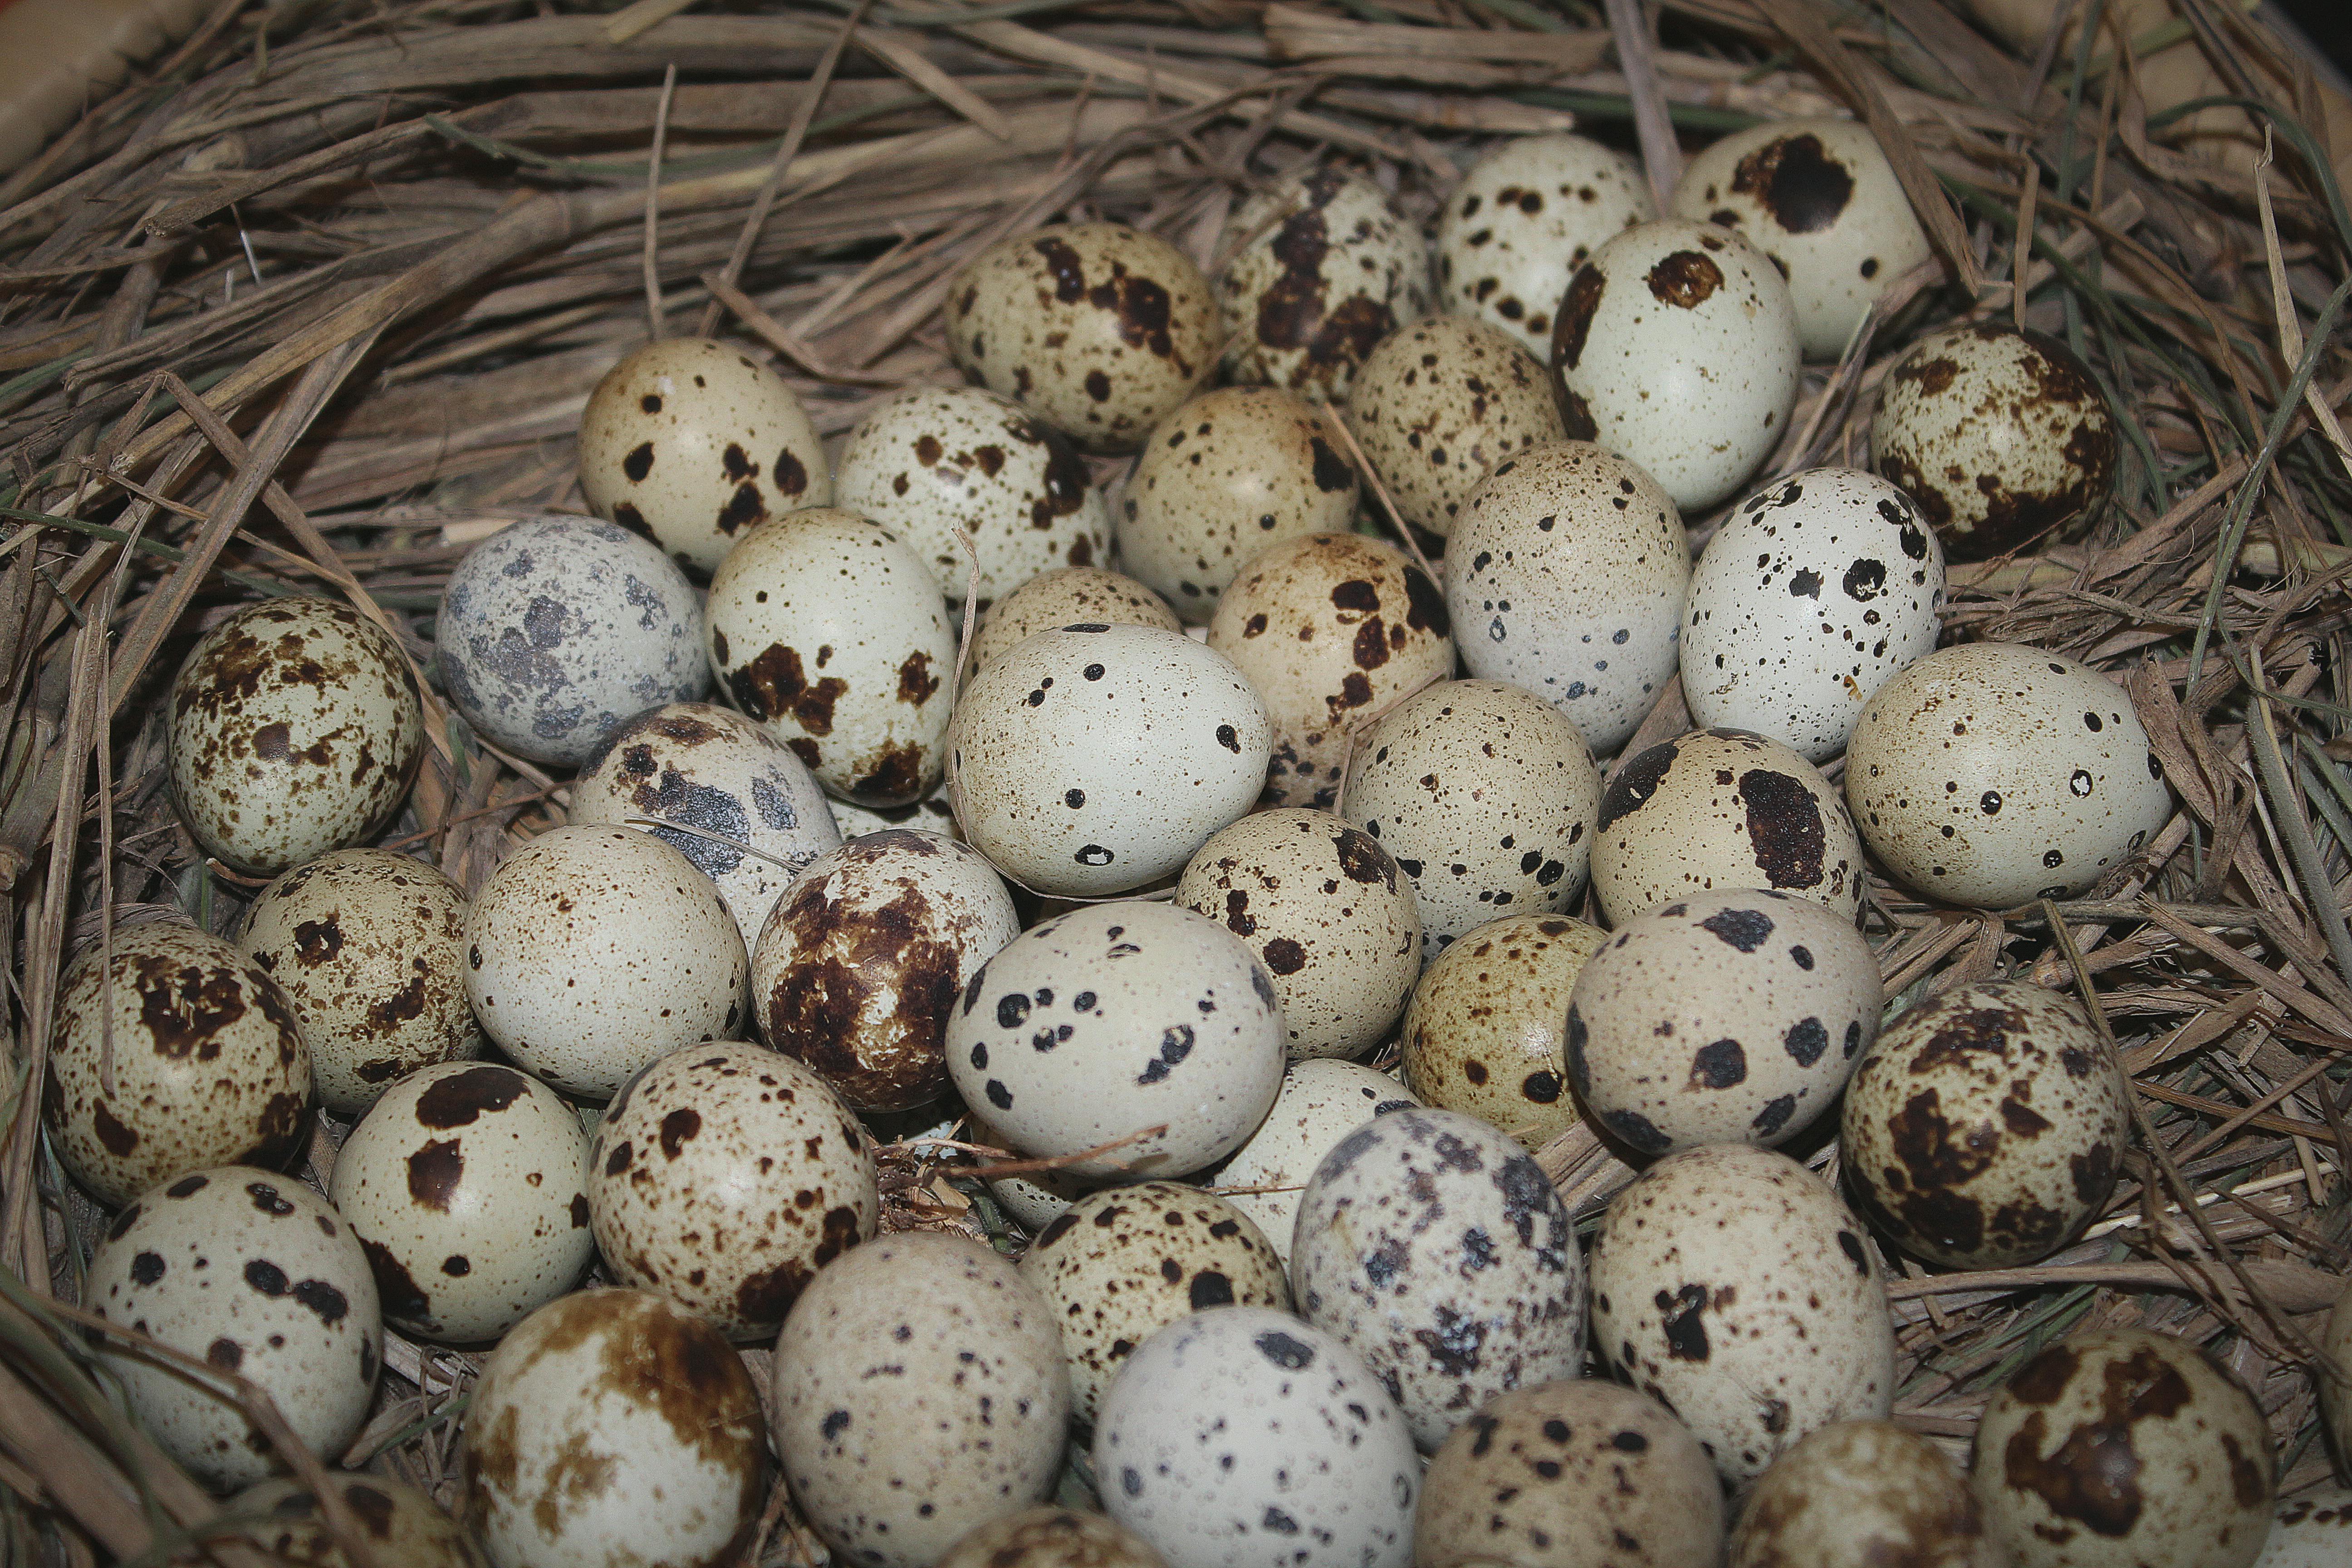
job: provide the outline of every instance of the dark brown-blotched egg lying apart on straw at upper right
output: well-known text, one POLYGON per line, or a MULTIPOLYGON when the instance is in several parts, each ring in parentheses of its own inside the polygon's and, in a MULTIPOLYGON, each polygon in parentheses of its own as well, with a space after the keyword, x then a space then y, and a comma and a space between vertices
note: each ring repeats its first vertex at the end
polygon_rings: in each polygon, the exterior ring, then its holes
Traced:
POLYGON ((1919 339, 1879 386, 1870 463, 1955 562, 2006 555, 2089 517, 2114 484, 2114 416, 2074 350, 2006 322, 1919 339))

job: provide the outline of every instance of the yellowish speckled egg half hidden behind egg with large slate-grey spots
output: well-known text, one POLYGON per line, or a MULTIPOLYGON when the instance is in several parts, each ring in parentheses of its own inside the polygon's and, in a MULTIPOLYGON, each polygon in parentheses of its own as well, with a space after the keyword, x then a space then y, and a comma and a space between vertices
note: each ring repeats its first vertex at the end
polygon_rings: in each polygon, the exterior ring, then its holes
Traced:
POLYGON ((1421 973, 1404 1009, 1404 1081, 1538 1150, 1581 1117, 1566 1088, 1569 992, 1609 940, 1566 914, 1508 914, 1472 929, 1421 973))

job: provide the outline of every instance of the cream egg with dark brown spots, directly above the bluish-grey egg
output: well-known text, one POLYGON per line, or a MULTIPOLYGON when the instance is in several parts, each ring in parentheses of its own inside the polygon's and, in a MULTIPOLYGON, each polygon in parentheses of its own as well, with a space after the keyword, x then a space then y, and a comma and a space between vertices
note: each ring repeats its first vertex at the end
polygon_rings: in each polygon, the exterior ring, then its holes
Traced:
POLYGON ((800 397, 710 339, 661 339, 604 371, 579 449, 588 508, 699 574, 755 522, 833 505, 826 447, 800 397))

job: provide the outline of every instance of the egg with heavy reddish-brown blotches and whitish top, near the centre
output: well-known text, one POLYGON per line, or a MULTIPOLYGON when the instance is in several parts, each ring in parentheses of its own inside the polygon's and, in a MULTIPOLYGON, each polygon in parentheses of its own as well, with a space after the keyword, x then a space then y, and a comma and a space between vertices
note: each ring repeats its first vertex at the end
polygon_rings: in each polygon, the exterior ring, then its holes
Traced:
POLYGON ((1004 879, 955 839, 891 827, 809 863, 750 954, 760 1039, 854 1110, 948 1091, 948 1009, 1021 936, 1004 879))

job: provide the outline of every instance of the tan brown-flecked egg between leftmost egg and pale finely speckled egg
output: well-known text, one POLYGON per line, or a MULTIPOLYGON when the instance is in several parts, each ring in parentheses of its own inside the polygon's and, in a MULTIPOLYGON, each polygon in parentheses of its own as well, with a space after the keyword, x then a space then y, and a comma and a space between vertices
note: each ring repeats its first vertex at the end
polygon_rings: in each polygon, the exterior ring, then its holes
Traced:
POLYGON ((254 896, 238 947, 294 1004, 320 1105, 336 1117, 482 1048, 466 1004, 466 896, 423 860, 320 856, 254 896))

